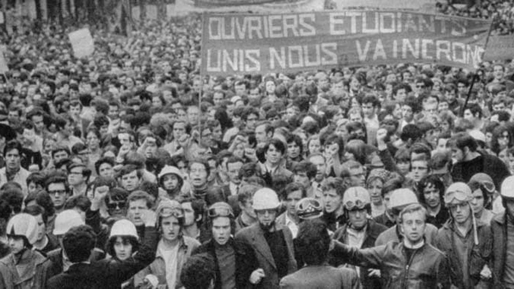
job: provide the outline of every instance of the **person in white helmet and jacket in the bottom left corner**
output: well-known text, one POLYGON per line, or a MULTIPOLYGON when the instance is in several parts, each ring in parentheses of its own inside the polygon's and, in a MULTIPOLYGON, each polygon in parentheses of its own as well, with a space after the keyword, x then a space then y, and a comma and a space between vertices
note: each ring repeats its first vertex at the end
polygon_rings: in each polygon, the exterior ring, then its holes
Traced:
POLYGON ((38 221, 26 213, 14 215, 6 232, 11 253, 0 259, 0 288, 43 288, 43 269, 48 259, 32 250, 38 240, 38 221))

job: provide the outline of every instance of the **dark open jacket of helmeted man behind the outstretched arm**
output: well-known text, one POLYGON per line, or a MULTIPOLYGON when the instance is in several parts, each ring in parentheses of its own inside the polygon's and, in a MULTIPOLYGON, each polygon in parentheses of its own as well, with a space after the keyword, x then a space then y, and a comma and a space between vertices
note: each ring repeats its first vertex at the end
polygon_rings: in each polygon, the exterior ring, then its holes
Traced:
MULTIPOLYGON (((332 236, 332 239, 338 240, 341 243, 347 244, 348 243, 348 234, 346 232, 346 228, 348 225, 344 225, 341 228, 339 228, 334 235, 332 236)), ((373 220, 368 221, 368 227, 366 228, 364 242, 362 242, 361 248, 371 248, 375 246, 375 241, 377 240, 378 236, 387 230, 387 227, 381 224, 378 224, 377 222, 373 220)), ((333 266, 340 266, 343 265, 344 260, 334 258, 333 256, 328 257, 328 263, 333 266)), ((368 269, 367 267, 361 268, 361 274, 360 274, 360 283, 362 284, 362 287, 364 289, 366 288, 380 288, 380 279, 376 277, 368 277, 368 269)))

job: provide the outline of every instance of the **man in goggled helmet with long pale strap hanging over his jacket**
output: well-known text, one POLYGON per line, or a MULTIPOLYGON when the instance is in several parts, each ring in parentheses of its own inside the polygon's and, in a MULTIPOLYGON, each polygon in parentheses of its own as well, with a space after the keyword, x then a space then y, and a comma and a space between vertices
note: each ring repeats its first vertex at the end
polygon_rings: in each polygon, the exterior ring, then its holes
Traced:
POLYGON ((462 182, 451 184, 444 201, 450 219, 437 232, 434 245, 448 256, 451 283, 458 288, 472 289, 491 277, 487 266, 491 254, 489 225, 476 220, 473 214, 473 195, 462 182))

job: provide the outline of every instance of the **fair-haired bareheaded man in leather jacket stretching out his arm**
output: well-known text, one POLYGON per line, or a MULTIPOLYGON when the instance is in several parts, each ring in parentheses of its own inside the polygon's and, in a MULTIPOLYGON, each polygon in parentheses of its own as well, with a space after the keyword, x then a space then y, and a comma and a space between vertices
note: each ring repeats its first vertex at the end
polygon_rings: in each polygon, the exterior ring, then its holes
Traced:
POLYGON ((400 242, 359 249, 334 241, 332 254, 345 263, 381 270, 384 289, 450 288, 448 260, 425 242, 426 210, 410 204, 399 215, 400 242))

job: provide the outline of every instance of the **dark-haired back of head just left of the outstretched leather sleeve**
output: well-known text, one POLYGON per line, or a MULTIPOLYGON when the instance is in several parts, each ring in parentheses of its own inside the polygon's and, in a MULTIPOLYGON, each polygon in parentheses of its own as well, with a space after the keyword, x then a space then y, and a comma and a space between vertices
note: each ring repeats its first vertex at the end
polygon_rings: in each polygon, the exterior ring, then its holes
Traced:
POLYGON ((320 219, 300 223, 296 238, 298 253, 307 265, 321 265, 325 262, 330 246, 326 223, 320 219))

